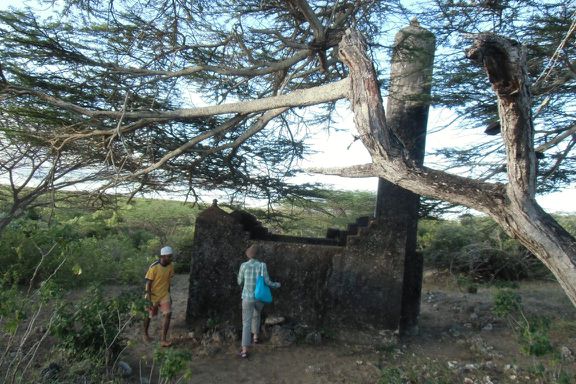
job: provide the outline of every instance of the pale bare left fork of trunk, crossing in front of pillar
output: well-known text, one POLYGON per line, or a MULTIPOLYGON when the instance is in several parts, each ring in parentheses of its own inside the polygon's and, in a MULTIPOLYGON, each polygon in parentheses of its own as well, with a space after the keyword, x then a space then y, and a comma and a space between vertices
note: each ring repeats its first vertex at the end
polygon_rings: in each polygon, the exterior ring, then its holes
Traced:
MULTIPOLYGON (((340 44, 342 61, 350 68, 351 105, 360 138, 373 163, 370 167, 322 170, 322 173, 382 177, 420 195, 462 204, 490 212, 496 201, 503 202, 504 188, 446 172, 420 167, 404 154, 401 142, 386 126, 384 106, 372 62, 360 34, 346 31, 340 44)), ((360 177, 360 176, 357 176, 360 177)))

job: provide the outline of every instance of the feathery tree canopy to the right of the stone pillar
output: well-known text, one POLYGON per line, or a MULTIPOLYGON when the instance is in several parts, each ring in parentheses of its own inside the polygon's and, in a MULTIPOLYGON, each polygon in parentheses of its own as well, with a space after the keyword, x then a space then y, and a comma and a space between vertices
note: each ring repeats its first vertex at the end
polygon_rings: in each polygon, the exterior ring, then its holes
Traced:
MULTIPOLYGON (((574 182, 574 121, 576 79, 576 3, 574 1, 434 1, 433 12, 418 14, 438 36, 441 47, 435 69, 434 104, 458 113, 461 128, 497 135, 499 117, 484 75, 470 69, 462 52, 466 37, 494 32, 526 47, 527 71, 533 97, 534 146, 539 159, 539 192, 574 182), (438 22, 438 20, 442 20, 438 22), (446 65, 448 64, 448 65, 446 65)), ((451 167, 469 164, 472 174, 506 181, 501 140, 474 148, 445 148, 451 167)), ((462 168, 460 168, 462 169, 462 168)))

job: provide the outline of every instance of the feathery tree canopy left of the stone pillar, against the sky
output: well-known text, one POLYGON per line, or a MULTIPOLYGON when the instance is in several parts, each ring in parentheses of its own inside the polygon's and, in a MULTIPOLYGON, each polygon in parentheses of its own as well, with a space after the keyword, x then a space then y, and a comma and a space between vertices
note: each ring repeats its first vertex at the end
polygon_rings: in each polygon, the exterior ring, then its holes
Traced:
POLYGON ((373 25, 371 12, 384 4, 316 9, 312 30, 298 2, 281 3, 69 2, 56 13, 3 12, 1 108, 11 118, 3 139, 93 151, 116 172, 105 185, 272 200, 301 192, 284 179, 306 152, 310 125, 325 122, 342 95, 326 92, 331 103, 314 114, 229 104, 343 78, 332 48, 350 20, 373 25))

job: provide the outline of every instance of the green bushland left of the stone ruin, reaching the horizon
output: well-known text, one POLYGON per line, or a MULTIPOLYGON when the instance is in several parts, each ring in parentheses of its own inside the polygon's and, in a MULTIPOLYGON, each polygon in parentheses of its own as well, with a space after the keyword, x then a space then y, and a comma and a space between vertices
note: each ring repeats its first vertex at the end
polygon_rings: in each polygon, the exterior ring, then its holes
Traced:
MULTIPOLYGON (((63 209, 15 220, 1 234, 0 273, 5 283, 38 284, 48 276, 63 287, 90 283, 136 284, 163 244, 176 250, 191 244, 198 209, 177 202, 138 200, 116 209, 63 209)), ((40 212, 40 210, 36 210, 40 212)), ((177 254, 186 271, 189 260, 177 254)))

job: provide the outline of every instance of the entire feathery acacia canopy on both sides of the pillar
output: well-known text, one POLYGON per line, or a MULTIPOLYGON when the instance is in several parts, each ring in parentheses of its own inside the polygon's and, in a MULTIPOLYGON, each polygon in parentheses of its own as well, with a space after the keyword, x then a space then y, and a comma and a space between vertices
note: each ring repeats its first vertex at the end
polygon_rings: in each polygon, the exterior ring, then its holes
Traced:
MULTIPOLYGON (((84 164, 115 173, 103 187, 303 194, 307 186, 286 180, 307 153, 306 135, 330 129, 345 92, 330 87, 347 75, 337 57, 343 31, 353 26, 368 39, 386 94, 389 41, 417 17, 439 42, 433 105, 457 111, 463 129, 497 129, 498 120, 485 76, 463 55, 466 36, 496 32, 528 47, 538 187, 572 182, 574 3, 405 3, 68 0, 12 8, 0 14, 2 140, 98 159, 84 164)), ((439 151, 450 167, 504 180, 501 140, 450 144, 439 151)))

